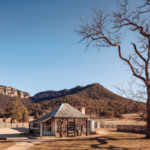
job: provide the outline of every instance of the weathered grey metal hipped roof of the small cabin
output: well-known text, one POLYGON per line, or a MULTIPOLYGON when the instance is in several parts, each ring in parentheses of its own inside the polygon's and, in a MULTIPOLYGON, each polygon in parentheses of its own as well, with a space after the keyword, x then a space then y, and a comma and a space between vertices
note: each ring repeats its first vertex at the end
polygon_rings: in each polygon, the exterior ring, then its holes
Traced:
POLYGON ((43 115, 41 118, 30 121, 30 123, 41 123, 41 122, 44 122, 44 121, 46 121, 46 120, 48 120, 52 117, 58 117, 58 118, 88 118, 86 115, 84 115, 82 112, 75 109, 74 107, 72 107, 68 103, 62 103, 60 106, 58 106, 52 112, 43 115))

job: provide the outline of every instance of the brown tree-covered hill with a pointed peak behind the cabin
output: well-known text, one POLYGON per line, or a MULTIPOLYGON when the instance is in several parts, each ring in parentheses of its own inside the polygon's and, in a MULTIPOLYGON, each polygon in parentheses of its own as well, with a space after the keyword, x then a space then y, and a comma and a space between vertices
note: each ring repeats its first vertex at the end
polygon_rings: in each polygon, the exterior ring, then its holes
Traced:
MULTIPOLYGON (((32 97, 30 99, 21 99, 21 101, 27 106, 30 114, 33 114, 35 111, 38 111, 40 114, 50 112, 61 103, 69 103, 77 109, 86 107, 87 114, 95 113, 101 116, 115 116, 115 114, 118 113, 137 112, 139 109, 146 108, 145 103, 123 98, 98 83, 90 84, 85 87, 77 86, 72 89, 61 90, 61 92, 62 91, 67 92, 65 94, 63 93, 63 95, 57 95, 56 93, 60 91, 50 91, 54 92, 50 97, 36 99, 32 97)), ((0 113, 4 113, 10 98, 9 96, 0 94, 0 113)))

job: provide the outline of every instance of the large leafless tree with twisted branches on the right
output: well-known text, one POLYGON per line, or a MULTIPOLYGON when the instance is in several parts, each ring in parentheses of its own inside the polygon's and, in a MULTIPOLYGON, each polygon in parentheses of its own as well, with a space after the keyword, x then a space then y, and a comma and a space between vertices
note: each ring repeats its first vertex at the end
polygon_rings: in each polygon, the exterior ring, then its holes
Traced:
POLYGON ((86 50, 93 44, 94 47, 110 47, 118 48, 118 55, 130 70, 133 77, 142 81, 146 87, 147 93, 147 131, 146 137, 150 138, 150 76, 149 76, 149 60, 150 60, 150 0, 142 0, 143 4, 130 9, 129 0, 117 0, 115 12, 108 12, 106 8, 103 10, 93 9, 94 15, 83 20, 81 24, 75 28, 80 36, 79 42, 86 41, 86 50), (136 33, 138 44, 131 42, 133 52, 129 57, 122 56, 122 28, 127 28, 131 32, 136 33))

